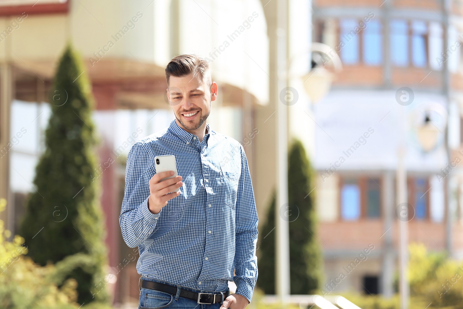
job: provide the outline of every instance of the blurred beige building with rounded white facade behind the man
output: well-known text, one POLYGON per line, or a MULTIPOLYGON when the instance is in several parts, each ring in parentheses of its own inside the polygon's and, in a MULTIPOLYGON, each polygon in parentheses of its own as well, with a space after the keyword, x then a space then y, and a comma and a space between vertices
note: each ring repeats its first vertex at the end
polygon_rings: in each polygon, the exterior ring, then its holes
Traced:
POLYGON ((253 141, 263 129, 255 130, 257 109, 269 101, 262 6, 257 0, 1 1, 0 196, 8 199, 2 219, 12 231, 22 218, 26 194, 34 190, 35 165, 54 103, 50 86, 67 42, 80 52, 92 83, 100 163, 109 157, 116 161, 98 177, 108 273, 118 278, 109 285, 114 303, 138 302, 136 250, 125 245, 118 220, 125 157, 136 140, 174 119, 164 68, 172 57, 194 53, 209 61, 219 85, 208 122, 244 145, 256 175, 253 141), (5 148, 9 142, 11 149, 5 148))

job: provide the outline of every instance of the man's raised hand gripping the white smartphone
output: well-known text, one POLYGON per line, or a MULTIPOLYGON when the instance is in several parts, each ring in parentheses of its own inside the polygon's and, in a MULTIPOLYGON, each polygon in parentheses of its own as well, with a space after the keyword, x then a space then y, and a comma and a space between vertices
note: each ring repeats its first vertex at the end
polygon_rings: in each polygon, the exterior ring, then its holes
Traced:
POLYGON ((150 185, 150 197, 148 198, 148 209, 151 213, 157 214, 161 211, 161 208, 167 205, 174 197, 180 195, 180 191, 173 192, 176 189, 180 188, 183 183, 181 182, 181 176, 174 178, 166 179, 161 181, 165 177, 174 175, 173 170, 168 170, 165 172, 160 172, 154 174, 148 182, 150 185), (169 192, 173 192, 168 194, 169 192))

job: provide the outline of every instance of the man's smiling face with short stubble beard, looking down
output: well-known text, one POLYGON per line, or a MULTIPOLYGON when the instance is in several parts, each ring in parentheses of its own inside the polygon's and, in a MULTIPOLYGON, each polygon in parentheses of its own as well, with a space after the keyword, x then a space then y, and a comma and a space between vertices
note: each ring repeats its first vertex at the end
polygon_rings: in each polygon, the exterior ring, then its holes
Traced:
POLYGON ((206 78, 201 79, 193 73, 182 76, 170 76, 167 97, 174 110, 175 118, 188 131, 200 128, 211 113, 211 101, 217 98, 217 84, 209 87, 206 78))

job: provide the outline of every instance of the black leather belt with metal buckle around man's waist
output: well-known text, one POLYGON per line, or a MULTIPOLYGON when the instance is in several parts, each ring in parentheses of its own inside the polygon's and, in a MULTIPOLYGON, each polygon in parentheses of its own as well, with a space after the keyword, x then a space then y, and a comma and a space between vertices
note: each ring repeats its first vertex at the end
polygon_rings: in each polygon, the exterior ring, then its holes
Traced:
MULTIPOLYGON (((163 284, 154 281, 148 281, 140 278, 140 288, 151 289, 151 290, 158 290, 161 292, 166 292, 172 295, 177 295, 177 287, 163 284)), ((224 294, 224 300, 230 295, 230 289, 227 289, 224 294)), ((222 293, 202 293, 198 290, 198 292, 193 292, 189 290, 184 290, 180 288, 180 296, 193 299, 197 303, 221 303, 222 302, 222 293)))

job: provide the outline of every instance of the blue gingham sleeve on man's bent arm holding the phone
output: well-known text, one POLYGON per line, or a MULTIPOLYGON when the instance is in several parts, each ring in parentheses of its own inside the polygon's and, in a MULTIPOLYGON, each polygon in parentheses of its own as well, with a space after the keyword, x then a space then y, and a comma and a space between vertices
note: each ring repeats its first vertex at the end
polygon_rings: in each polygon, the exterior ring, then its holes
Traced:
POLYGON ((162 213, 162 209, 157 214, 148 209, 148 181, 154 174, 150 155, 143 144, 136 143, 127 156, 124 199, 119 216, 122 237, 131 248, 139 246, 153 233, 162 213))

